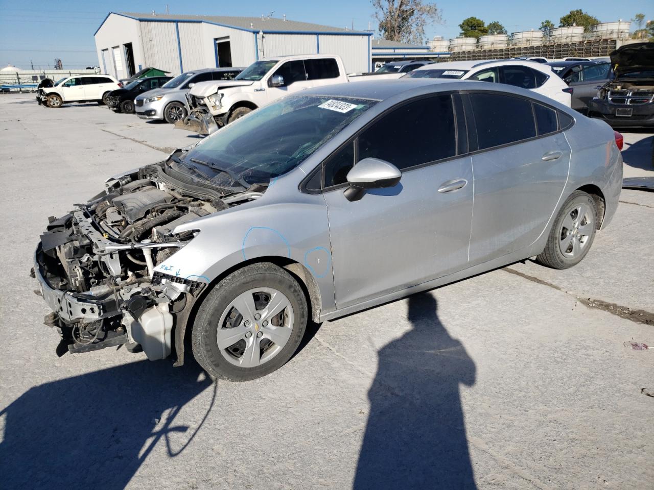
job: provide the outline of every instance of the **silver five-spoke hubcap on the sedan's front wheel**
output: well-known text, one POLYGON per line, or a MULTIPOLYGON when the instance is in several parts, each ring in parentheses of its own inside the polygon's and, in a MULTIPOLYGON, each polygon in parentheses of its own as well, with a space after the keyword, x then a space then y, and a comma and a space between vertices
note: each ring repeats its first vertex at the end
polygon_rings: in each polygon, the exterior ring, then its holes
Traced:
POLYGON ((216 342, 235 366, 256 367, 281 351, 293 330, 293 308, 286 295, 257 287, 238 295, 218 321, 216 342))

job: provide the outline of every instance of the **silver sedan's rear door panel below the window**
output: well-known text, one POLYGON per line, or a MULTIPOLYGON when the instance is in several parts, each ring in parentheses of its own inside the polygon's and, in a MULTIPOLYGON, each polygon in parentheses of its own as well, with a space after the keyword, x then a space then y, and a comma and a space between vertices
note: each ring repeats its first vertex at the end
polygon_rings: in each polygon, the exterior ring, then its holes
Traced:
POLYGON ((515 252, 540 237, 559 203, 569 166, 570 146, 562 133, 473 155, 469 265, 515 252))

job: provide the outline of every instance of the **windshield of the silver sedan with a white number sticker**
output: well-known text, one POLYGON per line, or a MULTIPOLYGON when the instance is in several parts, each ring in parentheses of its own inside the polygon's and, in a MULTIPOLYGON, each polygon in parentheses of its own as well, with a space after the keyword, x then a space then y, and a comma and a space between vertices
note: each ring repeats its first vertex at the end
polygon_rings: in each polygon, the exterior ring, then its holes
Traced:
POLYGON ((215 186, 267 184, 300 165, 376 103, 324 95, 284 97, 220 129, 181 162, 215 186))

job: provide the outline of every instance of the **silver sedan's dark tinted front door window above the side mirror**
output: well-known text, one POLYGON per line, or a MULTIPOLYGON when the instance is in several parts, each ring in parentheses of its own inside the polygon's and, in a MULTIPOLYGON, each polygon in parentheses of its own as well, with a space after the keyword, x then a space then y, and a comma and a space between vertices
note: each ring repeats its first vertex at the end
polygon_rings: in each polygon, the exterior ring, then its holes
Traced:
POLYGON ((374 157, 402 170, 452 157, 456 155, 455 127, 451 95, 409 102, 359 135, 357 161, 374 157))

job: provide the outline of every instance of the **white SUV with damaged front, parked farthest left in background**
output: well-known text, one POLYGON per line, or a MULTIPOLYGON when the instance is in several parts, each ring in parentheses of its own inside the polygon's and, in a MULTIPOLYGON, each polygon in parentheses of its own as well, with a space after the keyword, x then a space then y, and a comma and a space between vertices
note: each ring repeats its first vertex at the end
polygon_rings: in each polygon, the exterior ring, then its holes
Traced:
POLYGON ((105 98, 122 84, 111 75, 74 75, 61 78, 54 87, 40 88, 37 92, 39 104, 58 108, 71 102, 96 101, 105 103, 105 98))

